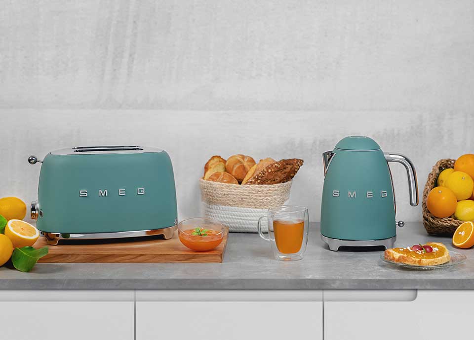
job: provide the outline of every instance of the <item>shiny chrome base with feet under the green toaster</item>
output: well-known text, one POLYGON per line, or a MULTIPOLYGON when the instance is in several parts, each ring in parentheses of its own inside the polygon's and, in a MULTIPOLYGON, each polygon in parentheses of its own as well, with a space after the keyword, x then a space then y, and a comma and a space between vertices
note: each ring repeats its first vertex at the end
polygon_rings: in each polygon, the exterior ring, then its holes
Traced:
POLYGON ((163 235, 164 239, 173 237, 174 232, 178 229, 176 225, 161 228, 161 229, 150 229, 150 230, 137 230, 129 232, 116 232, 116 233, 90 233, 90 234, 60 234, 60 233, 47 233, 40 231, 40 235, 46 238, 46 241, 50 245, 57 245, 61 239, 111 239, 111 238, 136 238, 143 236, 157 236, 163 235))

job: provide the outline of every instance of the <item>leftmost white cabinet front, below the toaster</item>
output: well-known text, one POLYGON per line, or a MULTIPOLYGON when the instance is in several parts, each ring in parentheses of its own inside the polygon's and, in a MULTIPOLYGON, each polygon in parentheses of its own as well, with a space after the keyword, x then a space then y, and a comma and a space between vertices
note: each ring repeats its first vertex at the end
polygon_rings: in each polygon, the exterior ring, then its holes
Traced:
POLYGON ((133 291, 0 291, 0 339, 134 339, 133 291))

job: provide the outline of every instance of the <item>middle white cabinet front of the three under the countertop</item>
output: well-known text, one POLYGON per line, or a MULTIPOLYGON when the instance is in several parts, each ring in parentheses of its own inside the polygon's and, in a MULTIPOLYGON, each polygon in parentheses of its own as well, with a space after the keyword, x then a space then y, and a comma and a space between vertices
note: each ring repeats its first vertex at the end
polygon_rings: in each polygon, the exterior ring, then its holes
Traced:
POLYGON ((322 339, 321 291, 137 291, 136 339, 322 339))

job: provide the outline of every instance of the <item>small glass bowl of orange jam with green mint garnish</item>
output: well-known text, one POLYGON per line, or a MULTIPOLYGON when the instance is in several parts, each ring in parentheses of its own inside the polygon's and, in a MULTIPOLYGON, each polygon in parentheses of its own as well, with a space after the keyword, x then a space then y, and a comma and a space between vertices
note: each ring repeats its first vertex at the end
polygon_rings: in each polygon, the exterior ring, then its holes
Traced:
POLYGON ((221 244, 228 229, 220 222, 193 217, 178 223, 181 243, 194 251, 209 251, 221 244))

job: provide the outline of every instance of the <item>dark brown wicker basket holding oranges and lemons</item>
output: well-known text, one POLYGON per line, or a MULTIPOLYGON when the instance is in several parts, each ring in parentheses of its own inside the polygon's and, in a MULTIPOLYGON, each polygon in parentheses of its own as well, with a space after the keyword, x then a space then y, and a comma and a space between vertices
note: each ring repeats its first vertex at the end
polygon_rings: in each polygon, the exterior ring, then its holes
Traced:
POLYGON ((461 223, 464 222, 452 217, 435 217, 430 213, 430 211, 428 211, 426 206, 426 199, 430 191, 436 186, 436 180, 438 179, 439 173, 444 169, 454 168, 454 162, 456 162, 455 159, 449 158, 439 160, 428 175, 428 180, 426 181, 425 189, 423 190, 423 225, 430 235, 451 237, 461 223))

